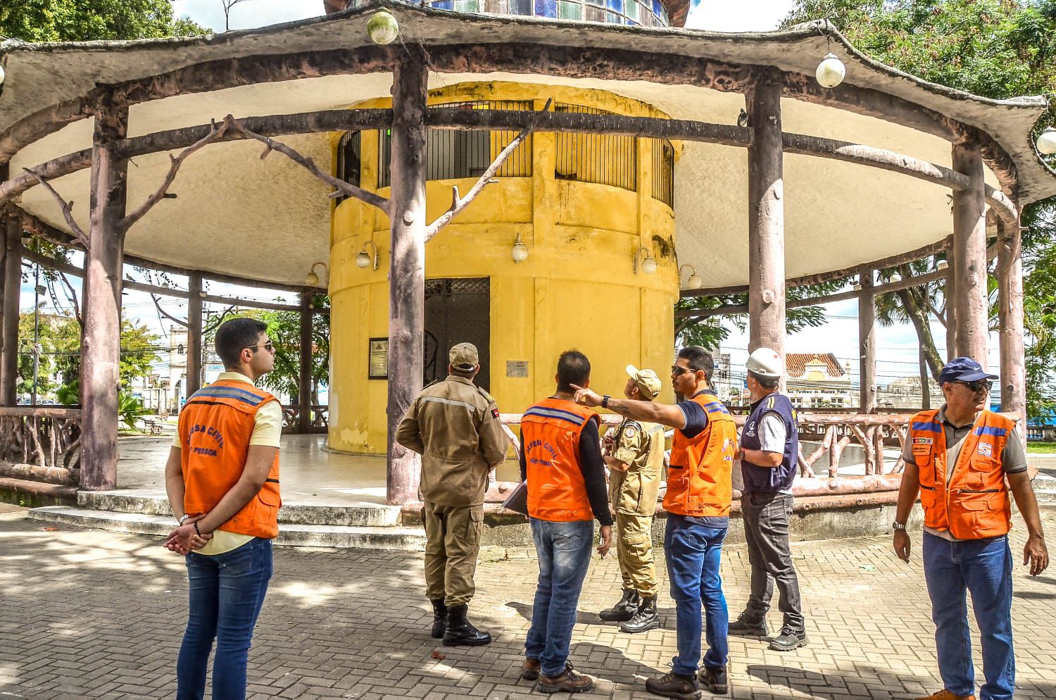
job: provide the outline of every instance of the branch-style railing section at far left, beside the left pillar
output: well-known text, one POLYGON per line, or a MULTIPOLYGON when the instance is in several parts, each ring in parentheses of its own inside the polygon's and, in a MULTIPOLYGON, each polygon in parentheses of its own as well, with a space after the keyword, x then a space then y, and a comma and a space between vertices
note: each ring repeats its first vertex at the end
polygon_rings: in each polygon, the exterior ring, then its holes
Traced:
POLYGON ((68 470, 73 478, 80 469, 80 409, 0 409, 0 461, 68 470))

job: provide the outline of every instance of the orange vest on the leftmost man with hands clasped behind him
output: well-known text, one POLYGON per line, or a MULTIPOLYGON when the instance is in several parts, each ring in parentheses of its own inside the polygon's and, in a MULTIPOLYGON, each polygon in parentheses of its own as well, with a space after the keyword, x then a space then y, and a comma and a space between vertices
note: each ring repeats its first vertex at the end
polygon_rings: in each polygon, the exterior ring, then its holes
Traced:
MULTIPOLYGON (((184 511, 208 513, 246 468, 257 411, 277 401, 244 381, 223 380, 199 390, 180 412, 184 511)), ((260 492, 218 529, 271 540, 279 534, 279 453, 260 492)))

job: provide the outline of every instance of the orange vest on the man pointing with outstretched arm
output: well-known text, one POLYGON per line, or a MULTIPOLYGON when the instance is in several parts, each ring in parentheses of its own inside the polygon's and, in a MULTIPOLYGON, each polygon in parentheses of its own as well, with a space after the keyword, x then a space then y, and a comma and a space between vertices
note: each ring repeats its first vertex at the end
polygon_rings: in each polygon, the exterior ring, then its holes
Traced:
POLYGON ((713 392, 704 390, 690 400, 708 412, 708 427, 692 438, 675 431, 663 508, 692 517, 729 516, 737 425, 713 392))

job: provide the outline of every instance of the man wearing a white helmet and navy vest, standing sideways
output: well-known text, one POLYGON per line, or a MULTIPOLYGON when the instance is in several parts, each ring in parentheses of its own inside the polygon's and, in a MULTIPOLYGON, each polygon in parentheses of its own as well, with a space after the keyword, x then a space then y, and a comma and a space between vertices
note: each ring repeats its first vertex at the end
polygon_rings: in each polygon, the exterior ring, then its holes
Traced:
POLYGON ((769 633, 767 612, 776 583, 777 607, 785 620, 770 648, 789 651, 807 643, 799 582, 789 547, 792 479, 799 454, 795 409, 778 392, 785 366, 776 352, 759 347, 749 356, 747 368, 752 413, 744 421, 738 457, 744 480, 740 510, 752 567, 752 591, 744 611, 730 623, 730 633, 769 633))

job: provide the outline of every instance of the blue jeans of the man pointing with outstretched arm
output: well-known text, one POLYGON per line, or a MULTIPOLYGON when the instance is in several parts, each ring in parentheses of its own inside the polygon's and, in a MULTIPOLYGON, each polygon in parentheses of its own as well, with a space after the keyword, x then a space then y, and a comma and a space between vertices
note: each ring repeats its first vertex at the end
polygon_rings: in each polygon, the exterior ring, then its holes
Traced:
POLYGON ((701 603, 708 620, 708 652, 702 663, 715 668, 725 665, 729 657, 727 633, 730 613, 719 575, 725 535, 725 528, 708 528, 675 513, 667 515, 663 545, 671 597, 675 601, 678 656, 673 665, 680 676, 697 673, 701 603))

